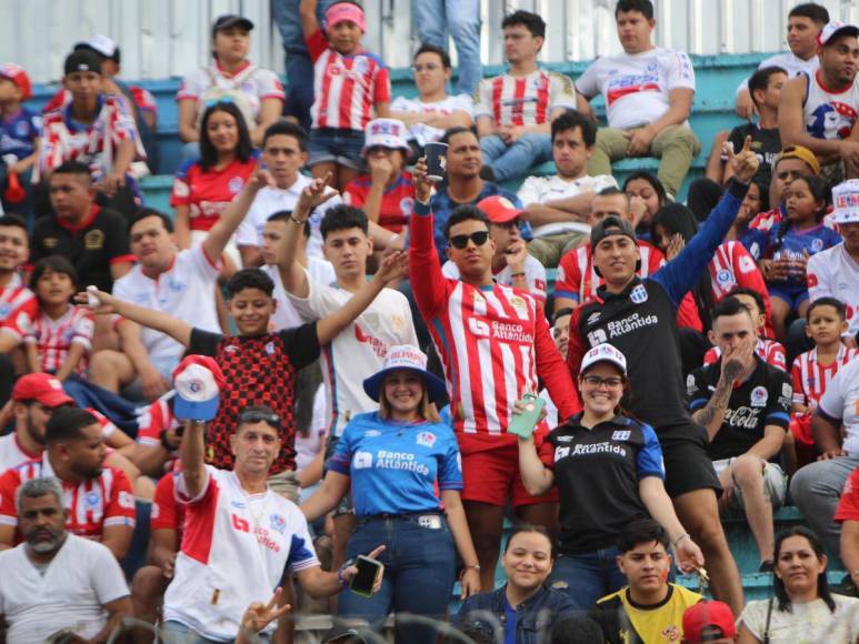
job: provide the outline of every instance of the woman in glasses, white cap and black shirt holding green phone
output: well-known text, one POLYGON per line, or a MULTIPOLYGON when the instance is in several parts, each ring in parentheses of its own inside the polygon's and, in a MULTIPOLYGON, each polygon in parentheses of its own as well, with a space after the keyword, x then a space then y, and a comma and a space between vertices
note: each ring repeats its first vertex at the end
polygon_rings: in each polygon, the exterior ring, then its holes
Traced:
POLYGON ((578 379, 585 410, 556 427, 540 446, 519 441, 519 467, 530 494, 553 484, 560 493, 560 547, 552 587, 565 587, 581 610, 627 584, 616 541, 628 522, 651 516, 668 532, 688 572, 703 555, 675 514, 665 490, 662 450, 650 425, 623 415, 627 360, 610 344, 591 349, 578 379))

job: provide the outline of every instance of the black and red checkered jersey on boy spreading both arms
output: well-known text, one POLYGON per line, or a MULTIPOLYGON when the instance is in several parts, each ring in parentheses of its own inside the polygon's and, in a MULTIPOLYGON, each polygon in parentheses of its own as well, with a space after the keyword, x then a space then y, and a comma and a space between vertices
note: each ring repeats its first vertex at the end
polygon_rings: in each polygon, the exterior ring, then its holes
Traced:
POLYGON ((191 332, 189 353, 214 358, 227 384, 218 415, 206 434, 207 461, 231 469, 230 434, 239 412, 249 405, 269 405, 280 416, 283 443, 270 473, 296 469, 296 374, 319 358, 317 323, 259 338, 221 335, 201 329, 191 332))

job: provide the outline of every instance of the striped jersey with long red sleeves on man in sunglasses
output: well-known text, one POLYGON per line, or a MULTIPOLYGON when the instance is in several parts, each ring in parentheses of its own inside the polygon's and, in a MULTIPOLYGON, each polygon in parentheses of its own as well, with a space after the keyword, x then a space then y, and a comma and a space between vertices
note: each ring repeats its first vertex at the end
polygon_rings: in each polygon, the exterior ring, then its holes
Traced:
POLYGON ((412 274, 423 278, 413 281, 412 289, 445 364, 462 453, 516 441, 507 434, 513 403, 538 391, 538 376, 560 417, 576 413, 572 380, 549 334, 542 306, 511 286, 477 288, 445 278, 432 217, 427 212, 427 205, 416 203, 409 263, 412 274))

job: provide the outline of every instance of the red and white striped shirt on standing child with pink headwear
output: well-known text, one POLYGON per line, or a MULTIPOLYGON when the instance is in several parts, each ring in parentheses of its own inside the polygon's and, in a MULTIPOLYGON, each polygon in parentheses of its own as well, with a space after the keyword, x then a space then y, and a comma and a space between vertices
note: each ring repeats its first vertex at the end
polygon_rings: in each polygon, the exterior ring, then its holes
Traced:
POLYGON ((307 38, 307 50, 313 61, 312 128, 363 132, 374 107, 391 100, 388 68, 368 51, 343 56, 328 46, 320 30, 307 38))

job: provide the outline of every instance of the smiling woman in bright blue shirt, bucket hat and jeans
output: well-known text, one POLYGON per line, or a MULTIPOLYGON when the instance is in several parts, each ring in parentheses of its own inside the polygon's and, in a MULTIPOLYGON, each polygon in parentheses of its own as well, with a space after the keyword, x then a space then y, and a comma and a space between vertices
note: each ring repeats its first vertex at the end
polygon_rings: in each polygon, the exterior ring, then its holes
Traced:
MULTIPOLYGON (((346 426, 321 487, 301 506, 309 521, 322 516, 351 483, 358 525, 348 556, 384 544, 379 556, 384 577, 370 598, 341 593, 338 612, 371 624, 381 625, 392 610, 443 620, 456 551, 465 562, 462 596, 480 590, 480 566, 459 494, 459 445, 431 404, 445 384, 426 365, 427 356, 414 346, 388 350, 383 369, 363 381, 379 411, 359 414, 346 426)), ((436 637, 435 628, 397 624, 397 642, 431 643, 436 637)))

